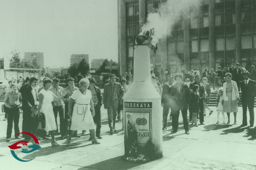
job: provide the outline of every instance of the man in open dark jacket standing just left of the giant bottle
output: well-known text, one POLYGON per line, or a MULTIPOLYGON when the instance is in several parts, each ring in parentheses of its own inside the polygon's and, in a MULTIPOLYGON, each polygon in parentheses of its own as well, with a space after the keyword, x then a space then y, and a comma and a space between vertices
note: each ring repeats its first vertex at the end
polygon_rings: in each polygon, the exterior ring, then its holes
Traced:
POLYGON ((115 82, 115 75, 112 74, 109 76, 110 83, 105 84, 104 86, 104 108, 108 109, 108 122, 110 128, 110 134, 113 134, 115 130, 115 118, 117 116, 117 107, 125 94, 125 89, 120 83, 115 82), (113 121, 113 126, 112 126, 113 121))

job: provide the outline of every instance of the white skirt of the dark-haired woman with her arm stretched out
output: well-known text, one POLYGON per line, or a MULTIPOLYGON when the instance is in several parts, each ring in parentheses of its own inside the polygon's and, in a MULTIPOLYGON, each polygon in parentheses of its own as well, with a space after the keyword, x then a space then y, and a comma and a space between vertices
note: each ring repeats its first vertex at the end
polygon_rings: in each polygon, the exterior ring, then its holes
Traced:
POLYGON ((52 103, 43 103, 40 113, 44 113, 44 116, 46 117, 46 128, 44 130, 57 130, 52 103))

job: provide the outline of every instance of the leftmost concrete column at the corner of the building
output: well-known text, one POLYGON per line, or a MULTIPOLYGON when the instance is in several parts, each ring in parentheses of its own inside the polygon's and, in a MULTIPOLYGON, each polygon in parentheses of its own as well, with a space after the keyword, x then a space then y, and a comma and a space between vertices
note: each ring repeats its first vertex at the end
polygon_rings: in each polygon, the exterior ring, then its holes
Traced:
POLYGON ((118 5, 118 74, 122 75, 126 65, 126 6, 124 0, 117 1, 118 5))

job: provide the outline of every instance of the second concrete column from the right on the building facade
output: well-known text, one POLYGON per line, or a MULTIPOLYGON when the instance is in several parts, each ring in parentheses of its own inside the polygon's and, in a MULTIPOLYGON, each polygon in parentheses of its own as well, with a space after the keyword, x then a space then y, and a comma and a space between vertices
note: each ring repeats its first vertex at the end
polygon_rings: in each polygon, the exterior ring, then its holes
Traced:
POLYGON ((209 70, 215 70, 214 1, 209 1, 209 70))

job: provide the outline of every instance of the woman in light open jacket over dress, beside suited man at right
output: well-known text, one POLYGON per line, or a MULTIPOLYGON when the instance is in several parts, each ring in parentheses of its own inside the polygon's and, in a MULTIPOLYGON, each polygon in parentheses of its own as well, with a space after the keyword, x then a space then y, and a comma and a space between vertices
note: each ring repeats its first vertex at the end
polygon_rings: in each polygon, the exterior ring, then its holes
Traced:
POLYGON ((231 73, 226 73, 226 82, 223 84, 223 112, 228 115, 228 122, 230 124, 230 112, 234 113, 234 124, 237 124, 237 102, 240 100, 237 83, 232 79, 231 73))

